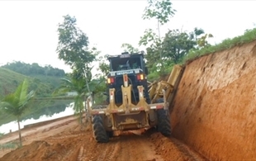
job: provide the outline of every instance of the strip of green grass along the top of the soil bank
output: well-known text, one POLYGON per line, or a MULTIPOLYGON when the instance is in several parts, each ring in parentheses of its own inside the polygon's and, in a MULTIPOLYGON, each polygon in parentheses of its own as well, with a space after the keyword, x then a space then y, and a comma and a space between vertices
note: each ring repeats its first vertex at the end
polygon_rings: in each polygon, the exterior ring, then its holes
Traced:
POLYGON ((225 39, 220 44, 208 45, 201 50, 190 50, 190 52, 183 58, 183 64, 191 62, 193 59, 197 59, 202 55, 213 54, 222 50, 229 50, 234 46, 243 45, 256 40, 256 28, 246 30, 244 35, 236 36, 233 39, 225 39))

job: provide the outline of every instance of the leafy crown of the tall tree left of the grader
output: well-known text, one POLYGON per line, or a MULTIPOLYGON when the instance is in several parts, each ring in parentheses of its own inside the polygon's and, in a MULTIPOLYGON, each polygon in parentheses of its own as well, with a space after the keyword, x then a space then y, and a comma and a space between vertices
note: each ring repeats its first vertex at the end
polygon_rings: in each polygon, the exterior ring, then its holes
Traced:
POLYGON ((88 36, 76 26, 76 21, 75 17, 66 15, 63 23, 59 24, 57 53, 59 59, 70 65, 73 71, 83 74, 86 81, 90 82, 91 63, 96 59, 97 53, 93 53, 96 48, 88 49, 88 36))

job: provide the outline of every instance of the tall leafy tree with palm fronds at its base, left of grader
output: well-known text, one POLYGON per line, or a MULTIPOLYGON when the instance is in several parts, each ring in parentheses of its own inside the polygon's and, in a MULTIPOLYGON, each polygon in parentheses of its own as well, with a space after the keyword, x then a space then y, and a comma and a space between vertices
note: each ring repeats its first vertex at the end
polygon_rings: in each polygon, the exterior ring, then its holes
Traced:
POLYGON ((58 26, 57 54, 73 72, 69 74, 69 79, 62 79, 64 83, 55 93, 77 92, 73 100, 74 111, 78 114, 79 123, 83 125, 83 111, 86 111, 83 102, 86 97, 92 96, 89 84, 92 82, 92 62, 97 60, 98 51, 94 47, 89 49, 88 36, 78 28, 76 21, 75 17, 66 15, 58 26))

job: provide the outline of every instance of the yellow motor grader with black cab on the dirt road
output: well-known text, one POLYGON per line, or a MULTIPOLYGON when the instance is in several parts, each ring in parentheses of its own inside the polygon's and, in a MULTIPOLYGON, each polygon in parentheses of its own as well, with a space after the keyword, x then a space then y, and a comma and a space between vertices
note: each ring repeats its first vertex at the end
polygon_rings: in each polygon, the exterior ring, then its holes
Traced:
POLYGON ((97 142, 108 142, 116 130, 139 130, 156 127, 171 135, 168 97, 182 71, 174 66, 168 81, 149 83, 144 52, 127 52, 108 56, 107 105, 90 106, 93 136, 97 142))

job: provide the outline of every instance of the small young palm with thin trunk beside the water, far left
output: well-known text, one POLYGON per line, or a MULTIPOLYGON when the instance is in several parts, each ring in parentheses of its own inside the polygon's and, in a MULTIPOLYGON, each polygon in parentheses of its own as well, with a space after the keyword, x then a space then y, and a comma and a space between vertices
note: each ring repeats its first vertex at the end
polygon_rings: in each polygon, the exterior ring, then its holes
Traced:
POLYGON ((8 94, 0 102, 1 111, 17 117, 19 140, 20 140, 21 146, 22 146, 21 127, 20 127, 21 115, 26 111, 28 107, 28 103, 31 101, 31 98, 34 97, 34 91, 27 92, 27 90, 28 90, 28 82, 25 79, 23 83, 21 83, 18 86, 18 88, 14 93, 8 94))

